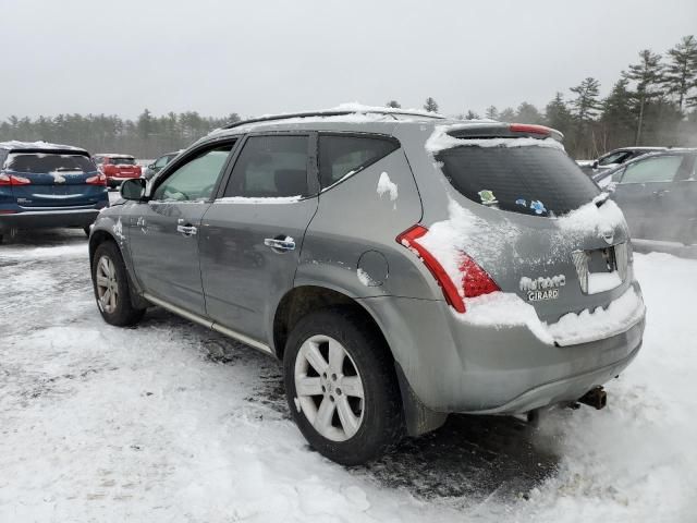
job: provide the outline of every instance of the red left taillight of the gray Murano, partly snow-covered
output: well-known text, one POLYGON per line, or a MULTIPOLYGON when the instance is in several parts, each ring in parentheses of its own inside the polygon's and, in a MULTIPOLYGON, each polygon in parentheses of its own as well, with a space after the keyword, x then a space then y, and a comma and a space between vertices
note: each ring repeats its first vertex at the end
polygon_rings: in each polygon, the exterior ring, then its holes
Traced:
POLYGON ((476 297, 501 289, 491 277, 479 267, 474 259, 465 253, 461 253, 460 272, 462 275, 460 285, 455 285, 443 266, 438 262, 418 239, 428 232, 424 226, 414 226, 396 236, 398 243, 416 251, 426 265, 426 268, 433 275, 436 281, 443 291, 445 301, 458 313, 466 311, 463 297, 476 297))

